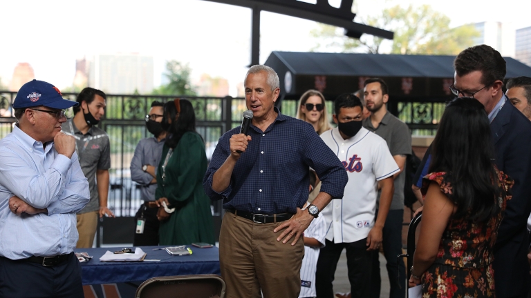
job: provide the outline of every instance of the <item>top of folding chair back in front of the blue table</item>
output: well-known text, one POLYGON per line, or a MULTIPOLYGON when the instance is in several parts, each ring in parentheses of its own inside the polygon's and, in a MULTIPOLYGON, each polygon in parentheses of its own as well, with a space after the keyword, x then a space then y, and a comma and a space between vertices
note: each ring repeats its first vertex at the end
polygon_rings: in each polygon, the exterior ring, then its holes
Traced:
POLYGON ((153 277, 144 281, 136 298, 223 298, 225 281, 219 275, 153 277))

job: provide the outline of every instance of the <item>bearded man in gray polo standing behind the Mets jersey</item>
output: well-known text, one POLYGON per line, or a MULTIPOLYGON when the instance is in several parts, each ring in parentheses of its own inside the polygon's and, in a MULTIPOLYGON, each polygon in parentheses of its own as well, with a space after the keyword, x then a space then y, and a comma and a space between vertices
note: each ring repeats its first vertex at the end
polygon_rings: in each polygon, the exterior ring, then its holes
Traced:
MULTIPOLYGON (((382 79, 367 79, 364 82, 364 99, 366 107, 371 111, 371 117, 363 121, 363 127, 382 137, 389 147, 400 172, 394 175, 394 194, 391 208, 387 215, 383 229, 382 248, 387 261, 387 275, 391 289, 389 297, 405 297, 406 272, 404 261, 396 256, 402 253, 402 221, 404 217, 404 166, 407 155, 411 155, 411 133, 406 123, 387 111, 385 103, 389 100, 386 83, 382 79), (397 268, 398 266, 398 268, 397 268), (397 277, 397 272, 398 277, 397 277), (398 284, 400 281, 400 285, 398 284)), ((378 210, 376 211, 378 215, 378 210)), ((380 297, 380 261, 378 251, 373 256, 373 271, 371 275, 371 298, 380 297)))

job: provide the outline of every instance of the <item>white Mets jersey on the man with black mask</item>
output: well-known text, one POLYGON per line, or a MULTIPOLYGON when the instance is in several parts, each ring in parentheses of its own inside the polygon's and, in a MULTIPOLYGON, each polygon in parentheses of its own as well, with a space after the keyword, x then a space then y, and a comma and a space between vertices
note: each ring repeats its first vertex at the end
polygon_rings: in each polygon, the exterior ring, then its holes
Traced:
POLYGON ((366 128, 350 139, 343 139, 337 128, 324 132, 321 138, 342 161, 348 175, 343 199, 333 199, 321 212, 327 224, 326 239, 334 243, 364 239, 374 226, 378 181, 400 168, 385 140, 366 128))

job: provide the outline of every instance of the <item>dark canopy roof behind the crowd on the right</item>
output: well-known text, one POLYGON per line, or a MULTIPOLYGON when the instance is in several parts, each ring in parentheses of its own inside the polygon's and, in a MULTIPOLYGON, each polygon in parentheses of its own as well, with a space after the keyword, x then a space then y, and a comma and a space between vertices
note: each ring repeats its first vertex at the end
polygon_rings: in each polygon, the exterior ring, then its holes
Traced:
MULTIPOLYGON (((368 77, 380 77, 391 97, 449 97, 455 56, 272 52, 265 65, 279 74, 281 95, 297 98, 308 89, 325 95, 355 92, 368 77)), ((510 57, 506 79, 531 76, 531 68, 510 57)))

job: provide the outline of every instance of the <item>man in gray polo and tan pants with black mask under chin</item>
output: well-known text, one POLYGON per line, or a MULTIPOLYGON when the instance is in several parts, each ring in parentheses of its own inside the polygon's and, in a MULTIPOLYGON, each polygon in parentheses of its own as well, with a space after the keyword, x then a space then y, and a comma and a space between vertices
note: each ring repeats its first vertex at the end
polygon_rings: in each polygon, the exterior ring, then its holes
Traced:
POLYGON ((90 87, 84 88, 77 95, 76 101, 80 105, 73 108, 73 119, 63 125, 63 131, 75 137, 75 151, 91 192, 91 200, 85 208, 77 212, 77 232, 80 239, 76 248, 92 247, 98 215, 114 217, 113 212, 107 208, 111 168, 109 136, 96 127, 105 113, 105 99, 104 92, 90 87))

